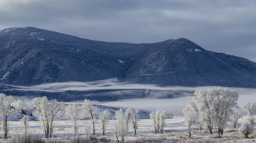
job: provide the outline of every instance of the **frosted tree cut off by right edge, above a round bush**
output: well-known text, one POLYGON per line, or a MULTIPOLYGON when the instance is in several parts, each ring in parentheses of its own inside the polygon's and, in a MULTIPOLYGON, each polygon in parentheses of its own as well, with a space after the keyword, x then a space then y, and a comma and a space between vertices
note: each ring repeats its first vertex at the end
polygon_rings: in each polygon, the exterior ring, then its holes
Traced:
POLYGON ((251 102, 245 103, 243 105, 243 110, 247 112, 248 120, 253 125, 255 123, 253 114, 256 113, 256 103, 251 103, 251 102))

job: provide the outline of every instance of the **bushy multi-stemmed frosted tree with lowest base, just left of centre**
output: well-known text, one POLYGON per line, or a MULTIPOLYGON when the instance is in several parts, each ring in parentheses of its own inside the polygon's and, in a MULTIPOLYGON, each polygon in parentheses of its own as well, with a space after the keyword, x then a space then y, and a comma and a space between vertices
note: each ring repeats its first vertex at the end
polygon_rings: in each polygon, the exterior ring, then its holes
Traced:
POLYGON ((127 116, 125 115, 125 112, 123 112, 123 109, 120 108, 120 110, 115 111, 115 116, 113 117, 113 124, 112 124, 112 130, 115 134, 115 137, 118 141, 118 143, 124 143, 125 138, 124 136, 127 135, 127 116), (121 138, 121 141, 120 141, 121 138))

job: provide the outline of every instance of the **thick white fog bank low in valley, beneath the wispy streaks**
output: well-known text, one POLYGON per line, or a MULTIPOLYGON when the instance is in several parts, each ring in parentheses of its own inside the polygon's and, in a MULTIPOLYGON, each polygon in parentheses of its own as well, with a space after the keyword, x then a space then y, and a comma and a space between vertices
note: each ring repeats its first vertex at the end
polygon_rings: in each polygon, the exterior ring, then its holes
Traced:
MULTIPOLYGON (((185 88, 185 87, 184 87, 185 88)), ((207 87, 209 88, 209 87, 207 87)), ((206 87, 197 87, 197 89, 207 89, 206 87)), ((191 89, 191 87, 189 87, 191 89)), ((248 88, 231 88, 236 90, 240 97, 238 98, 238 106, 240 107, 239 111, 246 115, 246 112, 243 111, 242 106, 250 101, 256 102, 256 89, 248 89, 248 88)), ((123 99, 118 101, 110 101, 110 102, 98 102, 93 101, 94 104, 102 104, 102 105, 110 105, 110 106, 121 106, 121 107, 136 107, 139 109, 156 111, 156 108, 159 107, 166 111, 173 112, 176 116, 182 116, 182 110, 187 105, 187 102, 193 96, 186 97, 178 97, 178 98, 135 98, 135 99, 123 99)), ((83 101, 71 101, 71 102, 79 102, 83 101)))

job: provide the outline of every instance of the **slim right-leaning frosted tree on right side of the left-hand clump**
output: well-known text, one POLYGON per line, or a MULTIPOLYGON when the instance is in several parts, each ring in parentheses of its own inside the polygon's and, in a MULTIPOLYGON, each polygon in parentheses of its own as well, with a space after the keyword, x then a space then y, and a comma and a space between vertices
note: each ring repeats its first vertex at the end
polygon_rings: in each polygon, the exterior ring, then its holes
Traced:
POLYGON ((56 99, 54 100, 50 100, 49 101, 50 104, 50 138, 51 138, 51 134, 53 133, 53 121, 54 121, 54 117, 55 115, 62 109, 63 107, 63 103, 62 102, 58 102, 56 99))

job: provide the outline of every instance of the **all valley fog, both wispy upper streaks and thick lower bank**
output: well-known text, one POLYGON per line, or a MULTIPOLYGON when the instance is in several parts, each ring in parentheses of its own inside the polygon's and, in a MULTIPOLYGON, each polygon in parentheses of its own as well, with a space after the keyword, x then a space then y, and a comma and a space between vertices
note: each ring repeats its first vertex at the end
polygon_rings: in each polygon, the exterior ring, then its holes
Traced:
MULTIPOLYGON (((7 90, 22 90, 22 91, 45 91, 45 92, 64 92, 64 91, 93 91, 93 90, 155 90, 155 96, 151 98, 133 98, 133 99, 122 99, 111 102, 98 102, 94 101, 95 104, 110 105, 110 106, 121 106, 121 107, 136 107, 144 110, 155 111, 157 107, 163 110, 171 111, 176 116, 182 115, 182 109, 187 105, 187 102, 193 97, 193 91, 195 89, 206 90, 208 87, 180 87, 180 86, 167 86, 161 87, 155 84, 137 84, 129 82, 119 82, 117 79, 107 79, 92 82, 57 82, 33 85, 30 87, 25 86, 14 86, 8 85, 12 88, 7 90), (159 92, 161 91, 161 92, 159 92), (161 97, 162 94, 170 93, 172 91, 191 91, 191 94, 186 94, 185 97, 178 98, 156 98, 161 97), (159 95, 161 94, 161 95, 159 95), (190 96, 189 96, 190 95, 190 96)), ((238 106, 242 108, 242 105, 248 101, 256 102, 256 89, 250 88, 231 88, 236 90, 240 97, 238 99, 238 106)), ((164 96, 163 96, 164 97, 164 96)), ((26 98, 20 96, 17 98, 26 98)), ((29 101, 30 99, 25 99, 29 101)), ((83 101, 72 101, 72 102, 83 102, 83 101)), ((28 103, 29 104, 29 103, 28 103)), ((31 104, 29 104, 31 106, 31 104)), ((245 114, 242 109, 239 109, 241 113, 245 114)))

